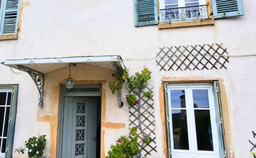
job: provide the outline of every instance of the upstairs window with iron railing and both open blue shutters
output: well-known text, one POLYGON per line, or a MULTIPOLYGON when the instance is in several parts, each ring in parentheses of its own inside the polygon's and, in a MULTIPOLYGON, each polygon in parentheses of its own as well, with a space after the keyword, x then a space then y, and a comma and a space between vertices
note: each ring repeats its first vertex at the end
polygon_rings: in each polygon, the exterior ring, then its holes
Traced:
POLYGON ((242 0, 134 0, 136 27, 241 15, 242 0))

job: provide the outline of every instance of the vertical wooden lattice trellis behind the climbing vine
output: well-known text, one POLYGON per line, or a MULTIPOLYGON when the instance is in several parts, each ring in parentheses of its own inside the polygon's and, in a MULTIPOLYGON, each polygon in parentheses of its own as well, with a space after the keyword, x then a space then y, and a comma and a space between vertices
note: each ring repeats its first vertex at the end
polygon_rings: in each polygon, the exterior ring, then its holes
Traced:
MULTIPOLYGON (((148 88, 147 86, 145 87, 145 89, 142 91, 142 94, 143 95, 143 92, 152 92, 152 96, 151 98, 147 99, 147 98, 144 98, 144 97, 141 97, 141 127, 143 128, 144 130, 144 133, 147 134, 147 135, 150 135, 150 137, 152 138, 152 142, 147 145, 147 144, 144 144, 144 149, 142 151, 142 155, 147 155, 147 154, 150 154, 151 155, 151 152, 152 151, 155 151, 157 152, 156 150, 156 133, 155 133, 155 129, 156 129, 156 126, 154 124, 155 122, 155 116, 154 116, 154 99, 153 99, 153 91, 152 91, 153 88, 148 88)), ((137 92, 139 92, 139 90, 137 90, 137 92)), ((137 93, 135 90, 132 90, 132 89, 129 89, 129 93, 131 94, 134 94, 136 95, 136 97, 138 98, 139 97, 139 94, 137 93)), ((129 108, 129 112, 131 113, 131 115, 129 116, 129 120, 130 120, 130 124, 129 124, 129 127, 132 128, 132 127, 137 127, 138 129, 138 135, 139 135, 139 138, 138 138, 138 145, 141 147, 141 144, 142 144, 142 140, 143 140, 143 136, 142 136, 142 133, 139 129, 139 113, 138 113, 138 106, 130 106, 129 108)))

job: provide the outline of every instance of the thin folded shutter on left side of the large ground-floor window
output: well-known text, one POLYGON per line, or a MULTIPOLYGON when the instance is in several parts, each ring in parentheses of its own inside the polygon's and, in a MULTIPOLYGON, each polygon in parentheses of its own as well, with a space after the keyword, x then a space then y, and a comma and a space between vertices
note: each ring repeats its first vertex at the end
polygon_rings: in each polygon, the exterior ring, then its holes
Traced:
POLYGON ((164 83, 164 98, 165 98, 165 115, 166 115, 166 135, 167 135, 167 151, 168 151, 168 158, 172 158, 172 146, 170 143, 170 129, 169 129, 169 106, 168 106, 168 89, 167 83, 164 83))

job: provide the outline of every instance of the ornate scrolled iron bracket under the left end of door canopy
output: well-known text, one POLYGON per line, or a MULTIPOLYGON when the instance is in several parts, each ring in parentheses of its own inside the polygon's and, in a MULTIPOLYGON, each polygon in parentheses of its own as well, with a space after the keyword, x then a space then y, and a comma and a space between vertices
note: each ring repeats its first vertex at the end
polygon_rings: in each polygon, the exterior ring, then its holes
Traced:
POLYGON ((39 92, 39 101, 38 101, 38 107, 41 109, 42 108, 42 97, 44 96, 44 81, 45 81, 45 74, 32 70, 28 67, 22 66, 22 65, 17 65, 19 70, 27 72, 33 81, 35 82, 35 85, 38 89, 39 92))

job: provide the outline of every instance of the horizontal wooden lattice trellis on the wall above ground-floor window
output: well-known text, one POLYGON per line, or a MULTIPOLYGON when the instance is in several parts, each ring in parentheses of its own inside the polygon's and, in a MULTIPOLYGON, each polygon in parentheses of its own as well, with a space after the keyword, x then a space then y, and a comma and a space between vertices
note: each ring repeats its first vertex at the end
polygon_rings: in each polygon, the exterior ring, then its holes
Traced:
POLYGON ((157 65, 161 67, 161 70, 202 70, 202 69, 221 69, 225 67, 225 63, 228 62, 227 48, 222 47, 221 44, 204 44, 201 45, 188 45, 188 46, 172 46, 160 48, 157 52, 156 60, 157 65), (166 49, 167 48, 167 49, 166 49))

